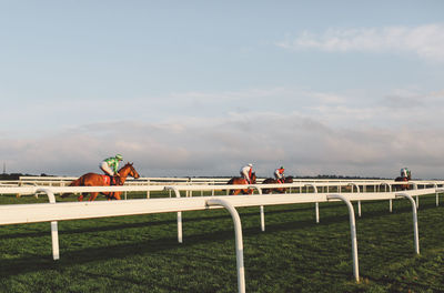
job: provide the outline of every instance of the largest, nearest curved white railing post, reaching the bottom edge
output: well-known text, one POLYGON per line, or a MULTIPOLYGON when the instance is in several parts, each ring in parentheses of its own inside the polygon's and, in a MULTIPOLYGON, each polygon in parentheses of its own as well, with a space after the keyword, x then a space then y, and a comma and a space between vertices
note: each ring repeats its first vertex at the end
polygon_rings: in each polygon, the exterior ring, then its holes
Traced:
POLYGON ((238 211, 232 204, 222 199, 211 199, 206 201, 208 205, 222 205, 225 208, 234 222, 235 250, 236 250, 236 266, 238 266, 238 292, 245 293, 245 269, 243 264, 243 239, 242 224, 238 211))

